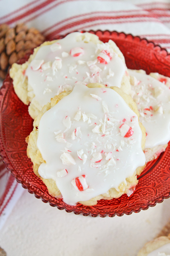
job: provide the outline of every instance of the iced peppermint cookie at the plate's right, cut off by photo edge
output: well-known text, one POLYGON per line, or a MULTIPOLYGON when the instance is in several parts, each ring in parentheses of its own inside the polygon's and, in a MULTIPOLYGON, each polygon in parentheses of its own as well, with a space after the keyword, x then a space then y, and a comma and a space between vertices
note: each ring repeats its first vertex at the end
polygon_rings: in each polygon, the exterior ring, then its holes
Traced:
POLYGON ((165 151, 170 141, 170 90, 144 71, 129 70, 131 96, 146 129, 144 153, 147 162, 165 151))

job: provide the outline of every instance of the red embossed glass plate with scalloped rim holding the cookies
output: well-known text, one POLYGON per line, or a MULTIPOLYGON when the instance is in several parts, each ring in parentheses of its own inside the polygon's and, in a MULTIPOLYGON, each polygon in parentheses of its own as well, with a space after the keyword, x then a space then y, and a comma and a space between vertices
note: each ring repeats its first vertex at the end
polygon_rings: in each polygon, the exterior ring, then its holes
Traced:
MULTIPOLYGON (((99 36, 103 42, 112 39, 116 42, 125 56, 126 64, 131 69, 143 69, 147 73, 159 72, 170 76, 170 55, 165 49, 146 39, 125 35, 124 33, 109 31, 90 31, 99 36)), ((60 36, 59 38, 62 38, 60 36)), ((29 57, 19 61, 24 63, 29 57)), ((58 209, 75 214, 91 215, 92 217, 113 217, 132 212, 140 212, 164 198, 170 197, 170 144, 159 158, 147 164, 144 172, 138 177, 139 183, 135 192, 130 196, 122 195, 118 199, 100 200, 96 206, 70 206, 62 199, 49 195, 46 186, 34 174, 32 163, 26 155, 27 144, 25 138, 32 131, 33 120, 28 114, 28 106, 24 105, 16 96, 12 79, 7 75, 0 90, 0 155, 7 168, 19 183, 36 198, 49 203, 58 209)))

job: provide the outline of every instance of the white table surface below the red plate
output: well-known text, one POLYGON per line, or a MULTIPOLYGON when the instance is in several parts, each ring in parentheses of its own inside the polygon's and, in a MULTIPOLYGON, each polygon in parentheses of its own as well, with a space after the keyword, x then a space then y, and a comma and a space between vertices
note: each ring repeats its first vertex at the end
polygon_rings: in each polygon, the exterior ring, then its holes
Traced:
POLYGON ((170 198, 132 215, 67 213, 24 191, 0 232, 7 256, 136 256, 170 219, 170 198))

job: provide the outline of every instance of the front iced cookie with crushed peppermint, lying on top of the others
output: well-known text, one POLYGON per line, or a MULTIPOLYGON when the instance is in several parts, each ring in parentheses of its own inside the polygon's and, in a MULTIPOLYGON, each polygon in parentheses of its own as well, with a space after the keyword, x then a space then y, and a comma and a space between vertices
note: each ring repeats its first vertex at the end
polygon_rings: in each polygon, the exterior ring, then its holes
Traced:
POLYGON ((144 169, 145 129, 136 104, 112 88, 76 85, 34 120, 27 155, 49 193, 67 204, 130 196, 144 169))

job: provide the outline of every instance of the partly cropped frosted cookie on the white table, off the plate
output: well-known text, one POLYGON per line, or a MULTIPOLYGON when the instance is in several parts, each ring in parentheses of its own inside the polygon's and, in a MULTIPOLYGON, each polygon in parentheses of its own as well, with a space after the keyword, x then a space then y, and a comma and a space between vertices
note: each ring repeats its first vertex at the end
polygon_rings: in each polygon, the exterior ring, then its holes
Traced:
POLYGON ((148 242, 137 256, 170 256, 170 236, 160 236, 148 242))

